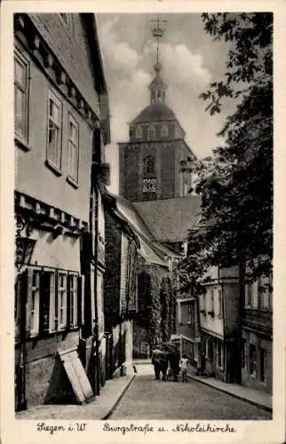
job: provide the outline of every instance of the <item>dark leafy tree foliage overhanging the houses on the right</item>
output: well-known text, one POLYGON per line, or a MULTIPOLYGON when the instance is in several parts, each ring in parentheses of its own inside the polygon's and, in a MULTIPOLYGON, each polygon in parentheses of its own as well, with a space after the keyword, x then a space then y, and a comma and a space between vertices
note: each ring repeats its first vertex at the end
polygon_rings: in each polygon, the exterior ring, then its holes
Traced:
MULTIPOLYGON (((222 145, 192 166, 203 230, 190 234, 193 253, 180 268, 190 272, 194 255, 201 262, 198 275, 210 265, 247 262, 253 280, 272 271, 273 15, 203 13, 202 18, 206 33, 229 50, 223 79, 200 97, 211 115, 229 100, 236 100, 236 108, 219 133, 222 145)), ((182 170, 187 168, 183 163, 182 170)))

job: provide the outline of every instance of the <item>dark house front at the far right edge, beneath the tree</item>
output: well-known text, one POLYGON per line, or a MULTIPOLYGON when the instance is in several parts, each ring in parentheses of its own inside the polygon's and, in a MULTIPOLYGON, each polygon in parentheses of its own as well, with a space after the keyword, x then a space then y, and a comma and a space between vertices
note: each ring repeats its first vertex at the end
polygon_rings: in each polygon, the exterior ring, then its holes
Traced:
POLYGON ((242 311, 242 385, 272 392, 272 277, 245 286, 242 311))

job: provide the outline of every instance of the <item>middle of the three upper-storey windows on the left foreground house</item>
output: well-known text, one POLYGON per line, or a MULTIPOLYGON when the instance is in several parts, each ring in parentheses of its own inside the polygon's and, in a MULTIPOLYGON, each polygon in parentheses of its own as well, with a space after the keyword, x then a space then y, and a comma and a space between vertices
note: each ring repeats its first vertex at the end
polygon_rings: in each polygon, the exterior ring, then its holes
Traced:
POLYGON ((62 105, 49 91, 47 161, 57 170, 61 168, 62 105))

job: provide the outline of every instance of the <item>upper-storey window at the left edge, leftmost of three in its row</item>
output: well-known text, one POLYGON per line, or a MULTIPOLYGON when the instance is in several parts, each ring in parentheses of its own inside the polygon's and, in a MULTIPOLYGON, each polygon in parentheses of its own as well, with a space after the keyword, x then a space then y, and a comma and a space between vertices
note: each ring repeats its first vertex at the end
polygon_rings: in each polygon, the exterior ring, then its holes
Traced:
POLYGON ((28 62, 18 53, 14 57, 14 125, 16 135, 28 142, 28 62))

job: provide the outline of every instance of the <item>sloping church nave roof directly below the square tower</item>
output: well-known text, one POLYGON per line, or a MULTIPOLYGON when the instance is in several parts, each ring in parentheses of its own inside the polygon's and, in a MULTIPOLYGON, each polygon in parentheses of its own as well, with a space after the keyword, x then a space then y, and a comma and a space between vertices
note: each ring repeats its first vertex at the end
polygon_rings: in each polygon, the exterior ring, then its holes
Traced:
POLYGON ((188 195, 159 201, 132 202, 157 242, 182 242, 201 218, 201 198, 188 195))

